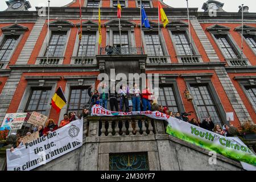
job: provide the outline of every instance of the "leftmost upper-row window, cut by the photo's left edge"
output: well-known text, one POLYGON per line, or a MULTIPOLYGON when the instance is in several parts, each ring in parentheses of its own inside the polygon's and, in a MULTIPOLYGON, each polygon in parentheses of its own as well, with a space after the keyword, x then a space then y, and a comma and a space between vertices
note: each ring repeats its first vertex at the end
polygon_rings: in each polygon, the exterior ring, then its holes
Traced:
POLYGON ((8 61, 11 52, 16 46, 19 39, 19 35, 16 36, 5 36, 5 40, 0 47, 0 61, 8 61))

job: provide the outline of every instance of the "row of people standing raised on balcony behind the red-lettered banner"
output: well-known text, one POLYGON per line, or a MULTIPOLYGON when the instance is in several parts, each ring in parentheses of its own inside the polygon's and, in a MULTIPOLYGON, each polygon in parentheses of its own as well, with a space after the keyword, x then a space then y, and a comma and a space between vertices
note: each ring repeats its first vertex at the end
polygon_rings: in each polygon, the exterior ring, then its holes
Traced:
POLYGON ((98 90, 94 89, 92 92, 93 86, 90 86, 88 89, 88 94, 90 97, 89 108, 95 104, 99 104, 105 109, 108 107, 108 100, 110 101, 110 110, 111 111, 146 111, 151 110, 151 96, 152 93, 146 87, 141 90, 138 88, 137 84, 133 84, 133 87, 130 88, 127 85, 121 85, 118 92, 116 92, 115 86, 109 89, 106 84, 102 84, 98 90), (118 98, 119 107, 118 107, 118 98), (132 109, 130 107, 132 106, 132 109), (115 109, 115 110, 114 110, 115 109))

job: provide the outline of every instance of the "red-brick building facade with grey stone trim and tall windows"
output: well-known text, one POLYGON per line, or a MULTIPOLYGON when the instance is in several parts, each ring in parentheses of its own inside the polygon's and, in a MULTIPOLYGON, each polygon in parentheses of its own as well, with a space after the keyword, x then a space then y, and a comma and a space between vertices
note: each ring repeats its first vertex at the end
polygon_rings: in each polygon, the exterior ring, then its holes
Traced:
MULTIPOLYGON (((232 124, 236 127, 246 121, 256 123, 256 13, 249 13, 248 7, 244 7, 243 27, 241 10, 226 12, 220 2, 205 2, 204 12, 189 8, 190 48, 187 9, 173 8, 160 1, 170 23, 166 28, 160 24, 158 33, 158 1, 142 1, 151 28, 142 27, 141 31, 140 1, 120 1, 121 46, 117 1, 81 2, 81 42, 79 1, 50 8, 49 32, 47 8, 28 11, 28 1, 11 0, 7 2, 9 8, 0 12, 0 123, 6 113, 38 111, 56 123, 68 111, 79 114, 89 100, 89 86, 100 82, 100 73, 110 75, 111 69, 115 69, 115 75, 158 73, 158 102, 171 111, 193 111, 191 118, 198 119, 210 115, 214 123, 221 125, 229 123, 226 113, 233 112, 232 124), (115 49, 109 54, 106 46, 115 49), (56 114, 50 103, 59 86, 68 104, 56 114), (186 88, 193 96, 192 102, 184 97, 186 88)), ((30 129, 24 123, 20 132, 30 129)), ((105 154, 99 156, 104 161, 105 154)), ((155 159, 159 160, 161 163, 162 159, 155 159)), ((154 169, 163 169, 154 165, 154 169)))

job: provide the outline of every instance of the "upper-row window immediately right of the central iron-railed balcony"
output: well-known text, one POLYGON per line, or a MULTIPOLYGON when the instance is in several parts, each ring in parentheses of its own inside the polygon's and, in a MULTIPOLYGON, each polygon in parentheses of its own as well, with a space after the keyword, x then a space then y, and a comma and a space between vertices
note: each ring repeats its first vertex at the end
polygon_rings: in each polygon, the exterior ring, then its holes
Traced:
POLYGON ((159 36, 156 33, 147 33, 145 34, 146 46, 147 46, 147 54, 151 56, 163 56, 163 48, 160 43, 159 46, 159 36))

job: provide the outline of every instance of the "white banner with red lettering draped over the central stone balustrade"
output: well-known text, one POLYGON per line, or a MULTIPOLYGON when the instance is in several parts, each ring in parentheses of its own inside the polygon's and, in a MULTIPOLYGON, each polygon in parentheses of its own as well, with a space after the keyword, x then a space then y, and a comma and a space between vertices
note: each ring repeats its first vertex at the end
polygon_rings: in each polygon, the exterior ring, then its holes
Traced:
POLYGON ((159 111, 133 111, 129 113, 125 112, 114 112, 110 110, 106 110, 104 107, 101 107, 100 105, 94 105, 92 106, 92 114, 91 115, 97 115, 97 116, 130 116, 130 115, 146 115, 147 117, 154 118, 154 119, 161 119, 166 120, 170 118, 170 115, 166 115, 164 113, 160 113, 159 111))

